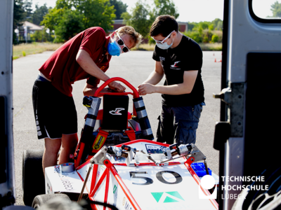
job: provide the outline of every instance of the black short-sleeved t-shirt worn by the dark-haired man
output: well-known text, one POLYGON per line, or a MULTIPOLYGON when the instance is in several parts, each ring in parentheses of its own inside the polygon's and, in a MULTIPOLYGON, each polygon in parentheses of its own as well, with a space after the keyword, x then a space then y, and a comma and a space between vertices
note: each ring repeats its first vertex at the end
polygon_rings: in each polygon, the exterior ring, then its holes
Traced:
POLYGON ((198 70, 195 85, 190 94, 162 94, 163 105, 192 106, 204 102, 204 85, 201 77, 202 57, 200 46, 185 35, 176 48, 162 50, 155 45, 152 58, 161 62, 166 77, 164 85, 181 84, 184 71, 198 70))

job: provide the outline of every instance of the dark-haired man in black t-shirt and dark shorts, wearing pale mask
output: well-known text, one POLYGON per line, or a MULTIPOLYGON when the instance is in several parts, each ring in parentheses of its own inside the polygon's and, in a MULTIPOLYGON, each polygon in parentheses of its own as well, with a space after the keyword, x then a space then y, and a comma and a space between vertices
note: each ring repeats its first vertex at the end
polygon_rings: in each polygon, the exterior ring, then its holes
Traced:
POLYGON ((202 106, 205 105, 202 50, 195 41, 178 31, 178 23, 170 15, 156 18, 150 36, 156 41, 152 56, 156 62, 155 70, 138 85, 138 92, 141 95, 162 94, 157 141, 195 144, 202 106), (164 85, 157 85, 164 75, 164 85))

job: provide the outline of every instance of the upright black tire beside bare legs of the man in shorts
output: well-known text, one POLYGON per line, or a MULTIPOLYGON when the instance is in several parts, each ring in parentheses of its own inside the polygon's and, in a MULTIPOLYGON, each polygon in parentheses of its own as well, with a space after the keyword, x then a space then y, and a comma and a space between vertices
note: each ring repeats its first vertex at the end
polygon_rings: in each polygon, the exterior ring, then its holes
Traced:
POLYGON ((37 195, 45 194, 45 177, 42 168, 43 150, 27 150, 22 155, 22 200, 32 206, 37 195))

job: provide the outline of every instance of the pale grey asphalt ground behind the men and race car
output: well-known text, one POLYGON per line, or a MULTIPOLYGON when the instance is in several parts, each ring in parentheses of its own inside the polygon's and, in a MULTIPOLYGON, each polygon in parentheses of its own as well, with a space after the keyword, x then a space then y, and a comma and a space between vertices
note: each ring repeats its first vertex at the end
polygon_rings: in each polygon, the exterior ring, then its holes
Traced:
MULTIPOLYGON (((15 186, 16 204, 22 202, 22 152, 26 149, 44 149, 44 140, 37 139, 37 130, 32 109, 32 86, 37 78, 39 67, 52 54, 46 51, 36 55, 28 55, 13 61, 13 139, 15 151, 15 186)), ((199 127, 197 129, 196 145, 207 157, 208 167, 212 172, 218 174, 218 151, 213 148, 214 127, 219 121, 220 101, 212 97, 213 93, 221 92, 221 51, 203 52, 202 79, 205 90, 205 103, 199 127)), ((110 69, 107 75, 110 77, 121 77, 129 81, 134 87, 141 84, 151 71, 155 61, 152 59, 152 52, 131 51, 112 57, 110 69)), ((78 115, 78 133, 84 125, 84 116, 87 113, 86 107, 82 105, 84 97, 82 90, 86 80, 80 80, 73 85, 73 97, 78 115)), ((159 83, 163 84, 164 79, 159 83)), ((129 90, 129 87, 127 87, 129 90)), ((161 95, 148 94, 143 97, 148 118, 156 137, 157 117, 161 109, 161 95)), ((58 104, 65 106, 65 104, 58 104)), ((102 109, 102 105, 100 106, 102 109)), ((129 111, 132 110, 130 100, 129 111)), ((62 116, 63 119, 63 116, 62 116)), ((80 134, 79 134, 80 137, 80 134)), ((34 183, 36 184, 36 183, 34 183)))

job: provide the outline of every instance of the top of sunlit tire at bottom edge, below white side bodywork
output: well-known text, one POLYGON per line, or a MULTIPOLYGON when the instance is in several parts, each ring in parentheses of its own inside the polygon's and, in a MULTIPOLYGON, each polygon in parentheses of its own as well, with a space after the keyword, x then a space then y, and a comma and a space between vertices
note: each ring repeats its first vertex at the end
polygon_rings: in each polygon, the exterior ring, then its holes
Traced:
POLYGON ((70 197, 68 197, 65 194, 44 194, 44 195, 37 195, 36 197, 34 197, 34 200, 32 202, 32 208, 37 209, 39 207, 41 207, 43 204, 46 204, 46 202, 54 200, 54 198, 56 198, 57 200, 59 200, 60 204, 64 204, 67 202, 70 203, 70 197), (65 201, 65 202, 62 202, 65 201))

